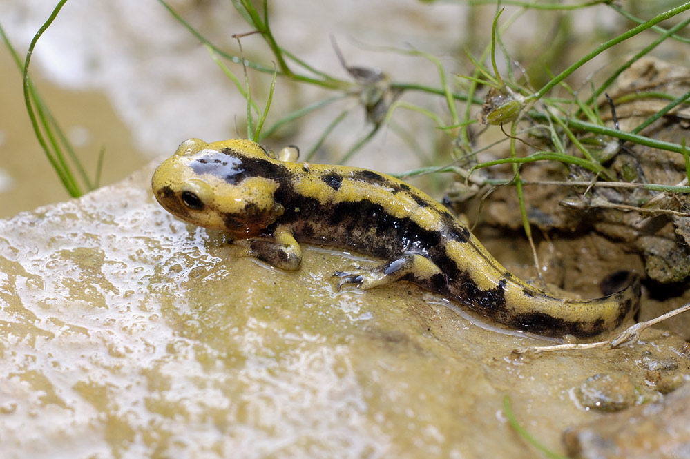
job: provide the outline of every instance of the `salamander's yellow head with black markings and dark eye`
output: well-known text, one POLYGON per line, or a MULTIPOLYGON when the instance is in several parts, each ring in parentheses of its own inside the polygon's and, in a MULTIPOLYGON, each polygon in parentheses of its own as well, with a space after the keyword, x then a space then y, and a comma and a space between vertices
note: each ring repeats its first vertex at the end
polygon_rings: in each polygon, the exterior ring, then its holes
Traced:
POLYGON ((153 195, 175 217, 233 237, 259 235, 282 215, 285 166, 253 141, 189 139, 153 173, 153 195))

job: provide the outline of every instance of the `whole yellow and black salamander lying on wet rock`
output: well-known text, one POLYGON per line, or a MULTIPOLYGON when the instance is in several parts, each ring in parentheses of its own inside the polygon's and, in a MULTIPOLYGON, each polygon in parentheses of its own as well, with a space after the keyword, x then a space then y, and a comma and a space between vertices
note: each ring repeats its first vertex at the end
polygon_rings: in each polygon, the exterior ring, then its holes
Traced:
POLYGON ((501 266, 439 202, 405 182, 349 166, 296 162, 253 141, 189 139, 155 170, 157 201, 176 217, 229 233, 240 255, 294 271, 300 242, 384 262, 338 271, 338 288, 396 281, 437 292, 515 329, 588 337, 611 331, 638 307, 637 277, 594 300, 556 297, 501 266))

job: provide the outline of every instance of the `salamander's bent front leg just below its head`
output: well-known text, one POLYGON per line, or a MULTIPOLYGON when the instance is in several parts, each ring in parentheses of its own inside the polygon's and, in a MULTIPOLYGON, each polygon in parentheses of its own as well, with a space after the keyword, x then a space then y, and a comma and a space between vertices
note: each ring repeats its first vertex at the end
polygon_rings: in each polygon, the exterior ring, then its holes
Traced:
POLYGON ((254 257, 276 268, 295 271, 302 263, 302 248, 291 231, 278 229, 273 237, 250 237, 233 241, 240 247, 238 256, 254 257))

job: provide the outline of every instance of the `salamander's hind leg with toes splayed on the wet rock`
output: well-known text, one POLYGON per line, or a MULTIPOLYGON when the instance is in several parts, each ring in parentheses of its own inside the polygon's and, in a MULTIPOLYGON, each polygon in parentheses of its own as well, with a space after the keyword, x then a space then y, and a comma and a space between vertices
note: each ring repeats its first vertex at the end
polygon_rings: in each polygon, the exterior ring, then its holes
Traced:
POLYGON ((434 262, 419 253, 406 252, 392 262, 374 268, 358 268, 352 271, 336 271, 334 277, 340 277, 338 289, 344 285, 355 284, 360 289, 389 284, 399 280, 413 282, 427 289, 442 290, 445 287, 445 275, 434 262))

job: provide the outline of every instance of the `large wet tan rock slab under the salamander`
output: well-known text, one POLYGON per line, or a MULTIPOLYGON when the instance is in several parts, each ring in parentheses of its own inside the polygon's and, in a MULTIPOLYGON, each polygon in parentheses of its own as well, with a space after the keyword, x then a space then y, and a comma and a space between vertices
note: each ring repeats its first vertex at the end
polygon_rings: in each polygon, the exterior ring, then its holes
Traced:
POLYGON ((553 343, 410 284, 337 291, 333 271, 376 262, 361 255, 305 246, 292 273, 238 257, 163 211, 152 172, 0 220, 3 459, 531 459, 505 395, 558 450, 601 416, 569 398, 589 376, 623 373, 620 393, 652 398, 650 371, 690 373, 684 342, 657 330, 513 361, 553 343))

